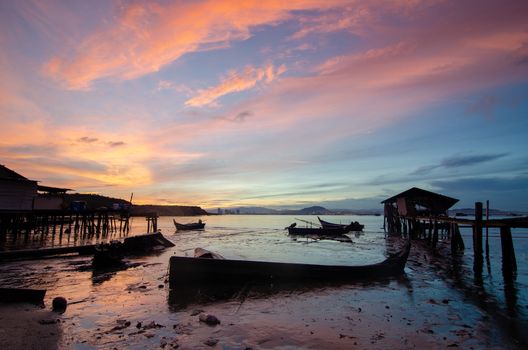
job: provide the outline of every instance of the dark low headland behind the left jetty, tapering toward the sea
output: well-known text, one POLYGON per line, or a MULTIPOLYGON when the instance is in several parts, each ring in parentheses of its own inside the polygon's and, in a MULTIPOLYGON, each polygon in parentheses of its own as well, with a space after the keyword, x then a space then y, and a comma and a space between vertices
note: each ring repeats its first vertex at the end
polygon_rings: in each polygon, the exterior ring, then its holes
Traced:
MULTIPOLYGON (((101 196, 98 194, 71 193, 64 195, 64 205, 69 208, 72 202, 86 202, 86 209, 93 210, 97 208, 111 209, 114 204, 129 205, 130 202, 124 199, 101 196)), ((132 215, 144 215, 147 213, 157 213, 160 216, 196 216, 207 215, 207 212, 197 206, 184 205, 139 205, 132 206, 132 215)))

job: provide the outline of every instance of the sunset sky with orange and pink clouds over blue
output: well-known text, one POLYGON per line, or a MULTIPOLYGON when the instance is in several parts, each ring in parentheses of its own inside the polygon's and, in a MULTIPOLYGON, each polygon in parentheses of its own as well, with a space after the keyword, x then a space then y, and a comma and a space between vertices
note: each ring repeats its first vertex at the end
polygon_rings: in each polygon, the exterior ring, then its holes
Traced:
POLYGON ((0 2, 0 164, 137 204, 528 211, 524 0, 0 2))

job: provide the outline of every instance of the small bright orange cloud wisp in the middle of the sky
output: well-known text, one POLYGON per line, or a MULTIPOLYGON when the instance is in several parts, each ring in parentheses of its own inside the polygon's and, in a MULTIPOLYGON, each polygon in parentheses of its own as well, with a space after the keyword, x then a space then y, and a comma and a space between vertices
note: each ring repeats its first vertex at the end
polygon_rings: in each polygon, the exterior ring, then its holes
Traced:
POLYGON ((251 89, 258 82, 271 83, 285 71, 286 67, 284 65, 275 69, 271 64, 264 68, 248 66, 241 73, 235 70, 230 71, 219 85, 199 91, 197 96, 185 101, 185 105, 193 107, 211 105, 224 95, 251 89))

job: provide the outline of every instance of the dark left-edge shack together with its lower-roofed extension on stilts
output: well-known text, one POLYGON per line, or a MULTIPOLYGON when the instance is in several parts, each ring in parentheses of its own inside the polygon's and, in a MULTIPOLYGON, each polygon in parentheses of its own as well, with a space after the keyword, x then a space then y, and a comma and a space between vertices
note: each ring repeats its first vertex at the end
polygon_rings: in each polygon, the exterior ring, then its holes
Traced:
POLYGON ((41 186, 0 164, 0 210, 63 209, 69 190, 41 186))

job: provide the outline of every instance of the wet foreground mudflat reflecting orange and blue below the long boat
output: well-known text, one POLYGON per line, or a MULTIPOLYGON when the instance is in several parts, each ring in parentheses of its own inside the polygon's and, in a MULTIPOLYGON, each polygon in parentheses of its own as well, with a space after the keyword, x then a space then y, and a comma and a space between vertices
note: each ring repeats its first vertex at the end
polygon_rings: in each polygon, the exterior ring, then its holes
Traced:
POLYGON ((4 306, 0 344, 4 349, 524 348, 439 278, 430 259, 415 245, 400 278, 274 293, 248 287, 229 300, 186 305, 167 302, 164 254, 138 258, 123 271, 84 276, 64 267, 82 266, 83 260, 62 260, 48 265, 51 274, 62 272, 47 308, 61 294, 71 302, 66 312, 4 306), (200 321, 207 314, 220 324, 200 321), (38 323, 41 319, 60 321, 38 323))

